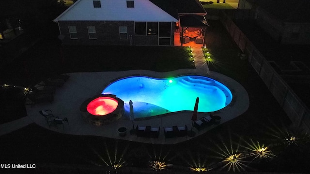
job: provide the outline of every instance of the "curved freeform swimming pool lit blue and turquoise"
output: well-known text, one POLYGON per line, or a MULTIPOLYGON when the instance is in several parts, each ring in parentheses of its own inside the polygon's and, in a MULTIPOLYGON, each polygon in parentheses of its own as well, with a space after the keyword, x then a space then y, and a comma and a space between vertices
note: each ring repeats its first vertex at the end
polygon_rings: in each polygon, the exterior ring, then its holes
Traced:
POLYGON ((192 111, 197 97, 199 112, 213 112, 224 108, 233 99, 228 87, 214 79, 198 75, 166 79, 131 76, 109 84, 102 94, 114 94, 123 100, 126 112, 129 111, 131 100, 135 117, 192 111))

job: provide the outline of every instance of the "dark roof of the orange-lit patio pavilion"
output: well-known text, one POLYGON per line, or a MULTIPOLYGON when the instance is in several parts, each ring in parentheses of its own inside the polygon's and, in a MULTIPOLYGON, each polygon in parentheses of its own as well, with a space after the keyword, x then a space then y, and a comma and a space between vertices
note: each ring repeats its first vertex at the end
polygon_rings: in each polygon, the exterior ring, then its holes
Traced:
POLYGON ((181 27, 209 27, 209 24, 202 15, 181 15, 181 27))

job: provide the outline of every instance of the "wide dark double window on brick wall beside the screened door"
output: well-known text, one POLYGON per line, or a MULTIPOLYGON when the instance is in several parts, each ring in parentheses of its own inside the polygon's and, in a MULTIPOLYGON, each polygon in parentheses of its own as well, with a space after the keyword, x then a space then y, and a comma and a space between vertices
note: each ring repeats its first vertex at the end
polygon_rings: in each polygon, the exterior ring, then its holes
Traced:
POLYGON ((153 36, 158 34, 158 22, 135 22, 136 36, 153 36))

